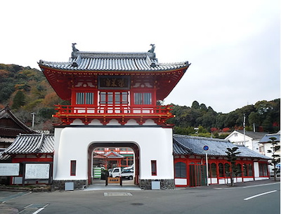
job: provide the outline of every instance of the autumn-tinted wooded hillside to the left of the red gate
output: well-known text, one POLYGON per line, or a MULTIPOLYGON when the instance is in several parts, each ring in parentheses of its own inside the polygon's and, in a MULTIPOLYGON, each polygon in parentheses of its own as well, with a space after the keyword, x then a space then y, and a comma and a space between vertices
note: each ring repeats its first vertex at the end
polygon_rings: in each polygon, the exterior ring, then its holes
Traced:
POLYGON ((34 129, 52 130, 55 108, 53 105, 63 103, 38 69, 20 65, 0 64, 0 109, 8 105, 15 116, 34 129))

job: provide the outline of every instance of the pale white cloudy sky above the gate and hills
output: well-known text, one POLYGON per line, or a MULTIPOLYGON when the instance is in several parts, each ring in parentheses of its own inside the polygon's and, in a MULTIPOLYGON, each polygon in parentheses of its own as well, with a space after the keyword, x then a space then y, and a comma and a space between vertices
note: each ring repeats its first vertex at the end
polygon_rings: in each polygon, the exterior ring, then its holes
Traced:
POLYGON ((0 63, 39 69, 79 51, 143 52, 191 62, 165 103, 228 113, 280 98, 278 0, 1 1, 0 63))

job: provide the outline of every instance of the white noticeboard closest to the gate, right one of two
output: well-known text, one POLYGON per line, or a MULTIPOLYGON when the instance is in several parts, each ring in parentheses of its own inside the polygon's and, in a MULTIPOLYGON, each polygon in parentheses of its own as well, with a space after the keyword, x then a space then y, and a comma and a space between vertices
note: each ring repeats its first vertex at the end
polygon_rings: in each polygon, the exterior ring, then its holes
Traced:
POLYGON ((48 179, 50 172, 49 163, 26 163, 25 179, 48 179))

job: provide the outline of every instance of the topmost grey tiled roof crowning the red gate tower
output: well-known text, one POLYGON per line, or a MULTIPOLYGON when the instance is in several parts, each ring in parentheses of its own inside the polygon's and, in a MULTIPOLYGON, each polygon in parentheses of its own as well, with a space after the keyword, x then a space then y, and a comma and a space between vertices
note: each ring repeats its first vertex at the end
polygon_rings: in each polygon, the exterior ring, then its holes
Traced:
POLYGON ((54 69, 77 71, 165 71, 188 67, 188 62, 158 63, 155 53, 72 52, 69 62, 39 61, 54 69))

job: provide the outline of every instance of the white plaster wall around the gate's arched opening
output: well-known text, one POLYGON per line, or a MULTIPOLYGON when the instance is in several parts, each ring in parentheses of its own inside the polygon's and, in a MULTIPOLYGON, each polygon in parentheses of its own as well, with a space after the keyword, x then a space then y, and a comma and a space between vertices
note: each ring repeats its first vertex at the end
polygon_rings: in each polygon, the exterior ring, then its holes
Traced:
POLYGON ((171 128, 116 126, 56 128, 53 180, 88 179, 88 148, 94 142, 134 142, 140 149, 140 179, 174 179, 171 128), (75 176, 70 176, 71 160, 77 161, 75 176), (157 161, 157 175, 151 175, 151 160, 157 161))

